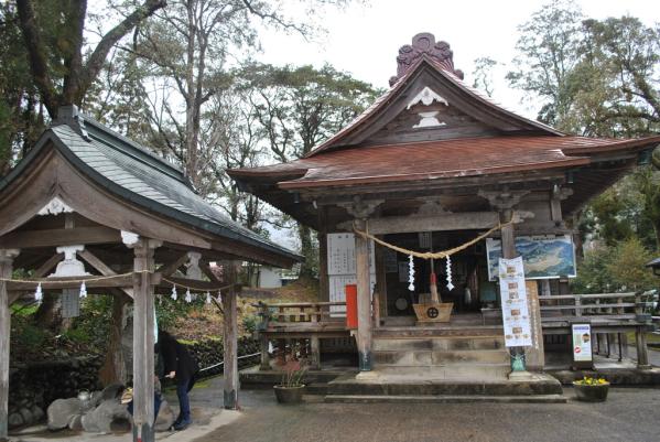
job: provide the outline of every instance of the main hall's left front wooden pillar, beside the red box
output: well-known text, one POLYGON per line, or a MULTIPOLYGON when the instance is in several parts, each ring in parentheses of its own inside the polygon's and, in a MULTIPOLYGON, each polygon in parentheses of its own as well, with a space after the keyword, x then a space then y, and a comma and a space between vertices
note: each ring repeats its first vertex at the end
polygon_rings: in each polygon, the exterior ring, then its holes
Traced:
MULTIPOLYGON (((366 230, 365 219, 356 220, 366 230)), ((371 370, 371 288, 369 281, 369 241, 355 235, 355 262, 357 279, 357 349, 360 371, 371 370)))

